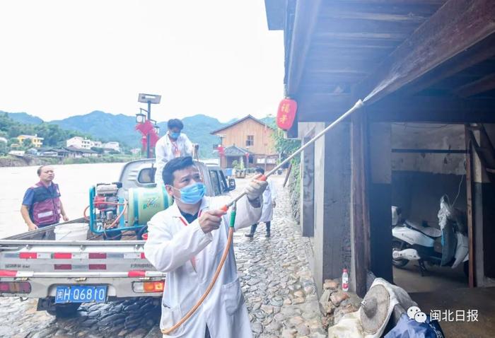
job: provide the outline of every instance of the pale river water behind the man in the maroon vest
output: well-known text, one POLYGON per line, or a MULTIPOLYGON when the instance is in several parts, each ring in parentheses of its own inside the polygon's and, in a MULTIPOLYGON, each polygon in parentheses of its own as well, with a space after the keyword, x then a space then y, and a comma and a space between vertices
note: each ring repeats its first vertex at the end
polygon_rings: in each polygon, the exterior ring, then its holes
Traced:
MULTIPOLYGON (((115 182, 124 163, 53 165, 62 203, 69 218, 83 216, 91 185, 115 182)), ((25 190, 38 182, 37 166, 0 168, 0 238, 28 230, 21 216, 25 190)))

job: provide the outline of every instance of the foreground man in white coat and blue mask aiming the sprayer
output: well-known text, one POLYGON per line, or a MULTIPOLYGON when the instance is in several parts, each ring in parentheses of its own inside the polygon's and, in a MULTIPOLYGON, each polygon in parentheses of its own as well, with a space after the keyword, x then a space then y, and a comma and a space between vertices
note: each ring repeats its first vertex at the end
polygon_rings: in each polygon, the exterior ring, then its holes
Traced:
MULTIPOLYGON (((148 222, 144 252, 156 269, 167 272, 160 327, 168 329, 206 291, 226 247, 231 214, 221 211, 221 206, 230 201, 228 197, 204 197, 201 174, 189 156, 169 161, 163 170, 163 182, 175 203, 148 222)), ((260 218, 266 187, 267 182, 250 182, 247 196, 237 202, 235 229, 250 226, 260 218)), ((163 337, 252 337, 233 247, 219 279, 196 313, 170 336, 163 337)))

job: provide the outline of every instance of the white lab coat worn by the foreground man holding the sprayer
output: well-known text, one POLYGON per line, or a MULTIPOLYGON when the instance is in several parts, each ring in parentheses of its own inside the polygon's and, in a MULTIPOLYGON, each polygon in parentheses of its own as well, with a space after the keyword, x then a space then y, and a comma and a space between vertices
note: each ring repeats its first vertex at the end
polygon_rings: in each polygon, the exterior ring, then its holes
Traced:
MULTIPOLYGON (((200 210, 220 209, 228 201, 228 197, 204 197, 200 210)), ((251 206, 246 197, 240 199, 235 229, 256 223, 261 211, 261 207, 251 206)), ((187 226, 182 223, 184 218, 181 220, 177 204, 159 212, 148 222, 148 240, 144 245, 146 259, 159 271, 167 272, 161 329, 172 327, 206 291, 226 247, 230 216, 229 211, 222 217, 220 228, 206 234, 198 220, 187 226)), ((252 337, 233 247, 219 279, 196 313, 175 332, 163 337, 202 338, 206 325, 212 338, 252 337)))

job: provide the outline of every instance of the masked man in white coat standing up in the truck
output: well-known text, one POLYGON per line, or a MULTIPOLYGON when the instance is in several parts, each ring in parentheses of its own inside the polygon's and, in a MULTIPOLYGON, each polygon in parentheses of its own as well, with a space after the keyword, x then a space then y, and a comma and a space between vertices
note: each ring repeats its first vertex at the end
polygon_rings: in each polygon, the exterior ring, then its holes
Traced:
POLYGON ((184 124, 177 119, 168 120, 168 132, 156 142, 155 146, 155 183, 157 187, 163 184, 162 171, 165 164, 180 156, 193 156, 194 145, 186 134, 182 133, 184 124))

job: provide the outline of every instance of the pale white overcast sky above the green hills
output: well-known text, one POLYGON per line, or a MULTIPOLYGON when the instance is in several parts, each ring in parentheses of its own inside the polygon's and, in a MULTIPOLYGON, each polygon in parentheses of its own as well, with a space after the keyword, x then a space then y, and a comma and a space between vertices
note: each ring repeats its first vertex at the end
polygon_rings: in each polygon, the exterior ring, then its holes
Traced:
POLYGON ((284 43, 263 0, 0 2, 0 110, 60 120, 93 110, 225 122, 276 115, 284 43))

